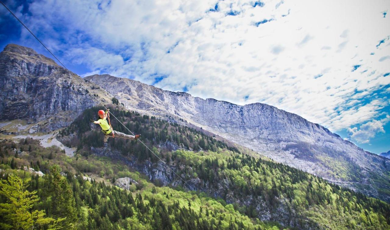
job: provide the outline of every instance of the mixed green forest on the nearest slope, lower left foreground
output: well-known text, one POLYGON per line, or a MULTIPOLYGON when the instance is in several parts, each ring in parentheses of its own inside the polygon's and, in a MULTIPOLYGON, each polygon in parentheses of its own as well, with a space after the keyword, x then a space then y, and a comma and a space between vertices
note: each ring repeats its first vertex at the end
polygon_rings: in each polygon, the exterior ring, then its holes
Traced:
POLYGON ((2 229, 280 229, 249 218, 206 193, 157 187, 138 172, 106 157, 68 157, 31 138, 0 142, 2 229), (25 151, 26 150, 26 151, 25 151), (30 166, 45 173, 21 170, 30 166), (85 179, 88 175, 101 175, 85 179), (109 173, 137 180, 130 191, 109 173), (74 174, 77 173, 77 174, 74 174), (101 173, 101 174, 100 174, 101 173), (87 175, 87 174, 84 174, 87 175))

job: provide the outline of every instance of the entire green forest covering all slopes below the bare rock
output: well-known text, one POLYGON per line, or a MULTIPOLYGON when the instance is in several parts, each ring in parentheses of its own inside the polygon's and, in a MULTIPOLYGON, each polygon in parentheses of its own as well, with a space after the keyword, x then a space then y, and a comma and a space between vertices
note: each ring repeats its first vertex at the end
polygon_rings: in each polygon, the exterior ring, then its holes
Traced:
MULTIPOLYGON (((156 117, 112 109, 129 130, 142 134, 143 142, 156 155, 137 141, 109 138, 109 151, 134 160, 138 167, 115 157, 98 156, 95 150, 104 149, 103 133, 89 122, 96 111, 86 110, 58 134, 66 145, 77 148, 74 157, 58 147, 43 148, 31 138, 0 142, 2 228, 390 228, 386 202, 296 168, 249 156, 201 130, 156 117), (176 150, 167 148, 167 142, 176 150), (164 184, 140 172, 139 168, 158 168, 156 156, 186 183, 167 174, 168 183, 164 184), (45 175, 40 177, 23 170, 25 167, 45 175), (122 177, 137 184, 127 191, 114 186, 122 177), (13 225, 22 212, 30 218, 25 220, 29 228, 13 225)), ((114 121, 112 124, 115 130, 127 133, 114 121)))

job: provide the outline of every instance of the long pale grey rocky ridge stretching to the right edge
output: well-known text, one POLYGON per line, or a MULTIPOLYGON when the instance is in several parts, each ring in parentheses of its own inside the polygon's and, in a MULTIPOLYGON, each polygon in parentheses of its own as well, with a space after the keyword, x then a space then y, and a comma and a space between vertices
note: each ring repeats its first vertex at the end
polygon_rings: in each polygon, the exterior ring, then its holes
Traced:
POLYGON ((107 74, 84 79, 100 85, 129 110, 184 119, 277 162, 390 201, 389 159, 367 152, 299 115, 261 103, 240 106, 205 100, 107 74))

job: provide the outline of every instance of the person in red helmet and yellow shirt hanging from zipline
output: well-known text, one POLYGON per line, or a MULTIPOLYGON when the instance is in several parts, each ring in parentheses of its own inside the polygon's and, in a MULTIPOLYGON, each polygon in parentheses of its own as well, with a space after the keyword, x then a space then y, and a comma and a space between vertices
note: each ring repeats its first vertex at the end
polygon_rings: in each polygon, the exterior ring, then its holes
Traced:
POLYGON ((137 140, 141 136, 141 134, 137 134, 137 135, 133 136, 133 135, 124 134, 124 133, 113 130, 112 126, 111 126, 111 122, 110 122, 110 124, 108 124, 107 120, 106 120, 107 116, 108 116, 108 121, 110 121, 110 109, 107 109, 106 112, 104 110, 99 110, 97 112, 97 115, 99 115, 99 120, 90 119, 89 121, 94 123, 94 124, 100 125, 101 131, 104 133, 103 142, 105 144, 107 143, 107 140, 111 136, 111 134, 112 134, 112 138, 115 138, 115 135, 116 135, 117 137, 129 139, 129 140, 137 140))

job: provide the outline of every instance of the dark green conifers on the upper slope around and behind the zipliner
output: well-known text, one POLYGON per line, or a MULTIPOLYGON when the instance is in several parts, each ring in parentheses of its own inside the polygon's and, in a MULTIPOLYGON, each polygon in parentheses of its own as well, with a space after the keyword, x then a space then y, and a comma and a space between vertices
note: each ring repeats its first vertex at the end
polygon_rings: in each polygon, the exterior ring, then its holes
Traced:
MULTIPOLYGON (((90 147, 103 146, 103 134, 99 126, 91 126, 89 119, 94 117, 96 111, 100 108, 94 107, 87 109, 78 117, 69 127, 61 131, 61 135, 76 133, 72 140, 66 142, 67 146, 78 147, 80 153, 88 154, 90 147), (84 147, 84 149, 83 149, 84 147)), ((111 112, 133 133, 140 133, 142 141, 152 149, 152 146, 167 145, 165 151, 171 150, 171 145, 182 147, 184 149, 193 149, 194 151, 209 150, 218 151, 218 149, 227 149, 239 152, 238 149, 225 142, 216 140, 203 132, 194 128, 180 126, 177 123, 166 120, 140 115, 136 112, 119 110, 112 108, 111 112)), ((112 119, 111 124, 114 130, 129 133, 117 120, 112 119)), ((158 161, 145 146, 140 142, 125 140, 121 138, 108 138, 108 143, 112 149, 119 150, 123 156, 135 155, 137 159, 143 161, 151 159, 153 162, 158 161)), ((155 151, 154 151, 155 152, 155 151)))

